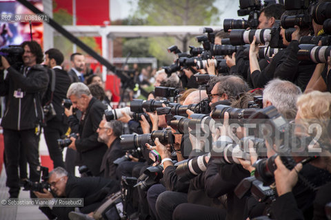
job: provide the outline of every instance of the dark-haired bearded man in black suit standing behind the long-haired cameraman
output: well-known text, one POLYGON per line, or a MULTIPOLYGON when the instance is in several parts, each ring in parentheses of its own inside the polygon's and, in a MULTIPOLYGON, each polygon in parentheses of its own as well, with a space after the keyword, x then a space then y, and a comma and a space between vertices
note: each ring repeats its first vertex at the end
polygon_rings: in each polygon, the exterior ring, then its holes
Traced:
POLYGON ((45 135, 46 144, 48 147, 48 152, 50 153, 50 158, 53 161, 53 166, 64 167, 63 155, 60 151, 57 140, 64 135, 68 129, 68 123, 66 116, 64 115, 63 107, 61 106, 62 100, 66 98, 68 88, 70 86, 71 80, 66 71, 61 67, 64 57, 63 54, 52 48, 45 52, 46 59, 45 65, 48 68, 53 69, 55 77, 54 82, 52 82, 52 72, 49 73, 50 83, 54 83, 54 91, 46 91, 46 95, 43 98, 43 105, 52 104, 56 115, 47 121, 46 126, 43 128, 43 134, 45 135))

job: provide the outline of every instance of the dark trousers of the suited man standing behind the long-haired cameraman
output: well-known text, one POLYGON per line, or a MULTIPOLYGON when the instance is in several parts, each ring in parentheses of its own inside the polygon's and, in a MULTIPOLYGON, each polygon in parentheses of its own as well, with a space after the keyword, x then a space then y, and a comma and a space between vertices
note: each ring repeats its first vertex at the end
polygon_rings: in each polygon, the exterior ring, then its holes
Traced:
POLYGON ((47 126, 43 128, 43 135, 45 136, 48 153, 50 159, 53 161, 54 168, 61 166, 65 168, 63 156, 57 140, 66 133, 66 126, 61 122, 48 122, 47 126))

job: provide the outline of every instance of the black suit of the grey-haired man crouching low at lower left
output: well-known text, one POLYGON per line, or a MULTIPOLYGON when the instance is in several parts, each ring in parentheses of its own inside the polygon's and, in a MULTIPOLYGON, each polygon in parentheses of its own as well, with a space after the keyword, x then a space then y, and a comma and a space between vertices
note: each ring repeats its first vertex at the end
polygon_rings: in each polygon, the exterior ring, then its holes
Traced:
MULTIPOLYGON (((83 198, 83 208, 81 212, 90 213, 98 208, 103 199, 111 193, 119 190, 118 184, 112 179, 101 177, 74 177, 69 175, 66 183, 66 198, 83 198)), ((74 207, 53 207, 52 212, 58 219, 69 219, 69 212, 74 211, 74 207)))

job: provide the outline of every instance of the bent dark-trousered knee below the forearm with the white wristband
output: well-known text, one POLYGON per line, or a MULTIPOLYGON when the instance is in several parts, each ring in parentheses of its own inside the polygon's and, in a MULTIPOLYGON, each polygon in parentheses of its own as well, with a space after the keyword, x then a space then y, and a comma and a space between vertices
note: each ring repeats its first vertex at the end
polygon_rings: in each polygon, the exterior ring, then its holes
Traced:
POLYGON ((172 220, 174 209, 181 203, 188 202, 188 194, 184 192, 162 192, 157 197, 157 219, 172 220))

